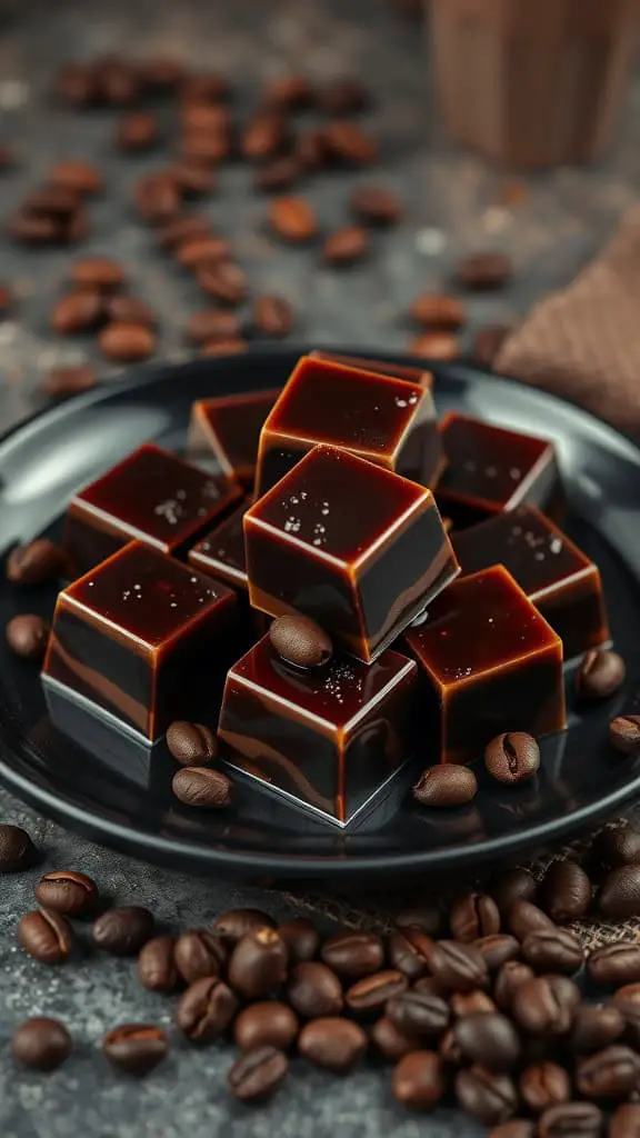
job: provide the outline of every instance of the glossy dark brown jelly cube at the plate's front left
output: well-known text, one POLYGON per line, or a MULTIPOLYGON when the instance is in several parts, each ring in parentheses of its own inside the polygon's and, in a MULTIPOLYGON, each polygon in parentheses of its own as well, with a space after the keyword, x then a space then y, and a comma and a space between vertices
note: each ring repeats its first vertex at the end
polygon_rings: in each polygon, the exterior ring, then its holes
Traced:
POLYGON ((235 605, 225 585, 132 542, 59 594, 44 676, 153 741, 215 706, 235 605))

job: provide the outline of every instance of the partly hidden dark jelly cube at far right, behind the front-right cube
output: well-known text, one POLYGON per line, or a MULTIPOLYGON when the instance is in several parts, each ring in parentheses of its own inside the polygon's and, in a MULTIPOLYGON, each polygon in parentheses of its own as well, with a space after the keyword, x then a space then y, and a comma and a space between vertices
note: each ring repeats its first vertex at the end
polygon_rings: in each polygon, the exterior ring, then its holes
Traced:
POLYGON ((499 513, 452 537, 467 576, 503 564, 563 641, 565 660, 610 640, 598 566, 534 506, 499 513))

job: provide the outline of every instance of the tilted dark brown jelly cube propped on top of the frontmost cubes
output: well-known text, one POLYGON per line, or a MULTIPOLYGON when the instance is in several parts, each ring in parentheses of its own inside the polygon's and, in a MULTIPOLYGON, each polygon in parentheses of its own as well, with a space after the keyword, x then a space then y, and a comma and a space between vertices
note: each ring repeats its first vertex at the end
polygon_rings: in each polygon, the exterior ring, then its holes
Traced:
POLYGON ((318 446, 244 519, 249 600, 370 662, 459 572, 429 489, 318 446))

